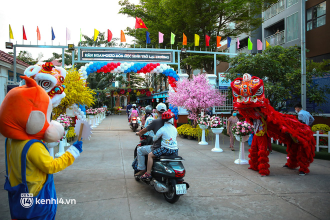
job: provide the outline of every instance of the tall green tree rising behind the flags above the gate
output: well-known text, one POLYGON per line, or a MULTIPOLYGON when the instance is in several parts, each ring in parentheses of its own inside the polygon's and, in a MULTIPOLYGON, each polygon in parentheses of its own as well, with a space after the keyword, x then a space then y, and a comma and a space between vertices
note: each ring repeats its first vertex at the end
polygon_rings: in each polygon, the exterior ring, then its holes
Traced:
MULTIPOLYGON (((277 0, 140 0, 139 4, 132 4, 128 0, 119 1, 119 13, 132 17, 140 17, 150 32, 150 47, 158 47, 158 31, 164 34, 161 47, 170 48, 170 33, 175 34, 174 47, 182 47, 184 33, 188 39, 188 46, 193 47, 194 34, 200 37, 199 46, 205 48, 205 35, 210 36, 207 50, 216 50, 216 36, 235 37, 241 33, 249 33, 262 22, 261 10, 277 0)), ((127 27, 126 34, 135 36, 135 43, 145 45, 145 29, 127 27)), ((205 71, 212 72, 213 56, 195 56, 192 59, 182 59, 180 63, 188 74, 194 62, 200 59, 205 71)), ((221 60, 218 60, 221 61, 221 60)))

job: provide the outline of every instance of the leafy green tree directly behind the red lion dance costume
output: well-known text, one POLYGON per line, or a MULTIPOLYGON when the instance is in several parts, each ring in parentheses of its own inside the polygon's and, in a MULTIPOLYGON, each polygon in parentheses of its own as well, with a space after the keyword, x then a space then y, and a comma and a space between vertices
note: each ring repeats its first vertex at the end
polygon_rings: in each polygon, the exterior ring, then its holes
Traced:
MULTIPOLYGON (((329 61, 327 61, 329 62, 329 61)), ((306 62, 311 65, 312 62, 306 62)), ((295 100, 301 94, 300 48, 291 46, 267 46, 256 55, 240 53, 231 59, 234 67, 226 74, 226 78, 234 80, 247 72, 263 80, 264 94, 270 104, 278 110, 285 108, 285 102, 295 100)), ((317 104, 325 103, 325 95, 330 93, 329 86, 318 86, 312 82, 313 76, 324 76, 328 72, 324 68, 307 66, 306 91, 309 101, 317 104)), ((231 93, 230 93, 231 94, 231 93)))

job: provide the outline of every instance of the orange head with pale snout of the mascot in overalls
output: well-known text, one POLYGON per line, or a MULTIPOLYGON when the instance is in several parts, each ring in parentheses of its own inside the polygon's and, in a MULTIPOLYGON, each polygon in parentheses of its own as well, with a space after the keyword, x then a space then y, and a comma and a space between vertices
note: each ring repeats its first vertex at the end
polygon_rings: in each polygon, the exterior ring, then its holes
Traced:
POLYGON ((0 105, 0 133, 8 138, 59 140, 63 126, 51 120, 51 100, 36 81, 26 76, 25 85, 11 89, 0 105))

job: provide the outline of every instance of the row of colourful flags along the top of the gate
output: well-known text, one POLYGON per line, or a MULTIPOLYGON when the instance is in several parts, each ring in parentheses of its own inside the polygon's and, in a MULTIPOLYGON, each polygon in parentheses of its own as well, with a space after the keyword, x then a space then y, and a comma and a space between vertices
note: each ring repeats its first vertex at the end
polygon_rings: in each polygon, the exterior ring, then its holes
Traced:
MULTIPOLYGON (((137 28, 145 28, 148 29, 144 22, 142 21, 141 18, 139 17, 135 17, 135 29, 137 28)), ((25 29, 24 29, 24 25, 23 25, 23 39, 27 40, 26 34, 25 34, 25 29)), ((37 32, 37 40, 41 39, 41 34, 40 34, 40 30, 39 27, 36 27, 36 32, 37 32)), ((93 40, 96 41, 97 36, 99 34, 99 31, 97 29, 94 29, 94 37, 93 40)), ((163 36, 164 34, 158 31, 158 43, 162 43, 163 42, 163 36)), ((13 39, 13 34, 12 34, 12 30, 11 30, 11 26, 9 24, 9 38, 13 39)), ((70 40, 71 38, 71 31, 66 27, 66 40, 70 40)), ((205 34, 205 46, 209 46, 209 40, 210 40, 210 36, 208 36, 207 34, 205 34)), ((55 39, 55 34, 53 31, 53 28, 51 27, 51 40, 55 39)), ((81 28, 80 28, 80 41, 82 39, 82 33, 81 33, 81 28)), ((110 42, 112 39, 112 32, 107 29, 107 41, 110 42)), ((145 31, 145 39, 146 39, 146 43, 151 43, 151 39, 150 39, 150 33, 146 30, 145 31)), ((194 46, 199 46, 199 35, 198 34, 194 34, 194 46)), ((216 47, 220 47, 221 41, 221 36, 216 36, 216 47)), ((122 30, 120 30, 120 42, 126 42, 126 38, 125 38, 125 34, 122 30)), ((175 34, 171 32, 170 35, 170 44, 174 44, 175 42, 175 34)), ((230 42, 231 42, 231 37, 227 37, 227 46, 230 47, 230 42)), ((266 43, 266 47, 269 46, 269 43, 267 42, 267 40, 265 40, 266 43)), ((237 49, 239 48, 239 39, 237 37, 237 49)), ((187 37, 186 35, 183 33, 183 40, 182 40, 182 45, 187 45, 187 37)), ((248 38, 247 39, 247 47, 249 50, 252 49, 253 44, 251 42, 251 40, 248 38)), ((262 42, 261 40, 257 39, 257 50, 262 50, 262 42)))

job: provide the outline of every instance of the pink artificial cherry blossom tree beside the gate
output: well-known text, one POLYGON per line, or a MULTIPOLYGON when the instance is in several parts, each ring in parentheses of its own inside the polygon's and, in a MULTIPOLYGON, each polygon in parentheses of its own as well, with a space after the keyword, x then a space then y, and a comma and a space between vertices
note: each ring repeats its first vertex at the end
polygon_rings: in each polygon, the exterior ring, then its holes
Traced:
POLYGON ((224 105, 225 96, 208 83, 206 74, 194 75, 192 79, 177 81, 176 92, 169 92, 166 99, 172 106, 186 108, 188 118, 197 126, 196 119, 202 109, 224 105))

